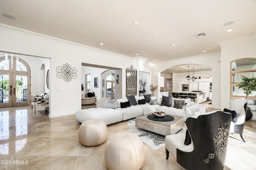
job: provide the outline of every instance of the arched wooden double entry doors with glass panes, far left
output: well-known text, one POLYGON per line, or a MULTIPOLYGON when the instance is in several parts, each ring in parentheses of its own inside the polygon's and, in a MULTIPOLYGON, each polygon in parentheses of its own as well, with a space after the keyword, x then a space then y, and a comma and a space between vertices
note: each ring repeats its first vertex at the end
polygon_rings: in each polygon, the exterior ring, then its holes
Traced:
POLYGON ((0 57, 0 107, 30 105, 30 73, 24 60, 0 57))

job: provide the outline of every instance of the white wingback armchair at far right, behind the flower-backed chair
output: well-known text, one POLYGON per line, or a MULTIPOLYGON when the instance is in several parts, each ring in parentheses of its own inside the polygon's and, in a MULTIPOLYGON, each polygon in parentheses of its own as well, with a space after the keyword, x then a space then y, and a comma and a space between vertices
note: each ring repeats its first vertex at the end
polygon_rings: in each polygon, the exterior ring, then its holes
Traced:
POLYGON ((244 131, 244 122, 246 117, 247 111, 247 99, 235 99, 229 102, 230 110, 236 111, 236 122, 231 121, 230 124, 230 133, 237 133, 240 134, 240 137, 245 142, 243 138, 243 131, 244 131))

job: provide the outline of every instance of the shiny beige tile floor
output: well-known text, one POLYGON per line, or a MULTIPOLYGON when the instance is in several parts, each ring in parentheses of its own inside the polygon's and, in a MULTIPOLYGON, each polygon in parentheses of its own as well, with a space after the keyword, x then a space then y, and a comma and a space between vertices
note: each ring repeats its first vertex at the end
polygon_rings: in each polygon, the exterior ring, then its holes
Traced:
MULTIPOLYGON (((211 105, 205 103, 207 111, 211 105)), ((88 106, 96 107, 96 105, 88 106)), ((0 109, 0 169, 106 170, 104 148, 82 146, 78 140, 80 123, 75 115, 49 118, 43 111, 36 116, 30 106, 0 109)), ((256 169, 256 121, 247 121, 246 143, 229 138, 225 170, 256 169)), ((108 136, 129 129, 127 121, 108 125, 108 136)), ((239 138, 238 134, 231 134, 239 138)), ((183 169, 165 148, 152 150, 144 144, 146 158, 142 170, 183 169)))

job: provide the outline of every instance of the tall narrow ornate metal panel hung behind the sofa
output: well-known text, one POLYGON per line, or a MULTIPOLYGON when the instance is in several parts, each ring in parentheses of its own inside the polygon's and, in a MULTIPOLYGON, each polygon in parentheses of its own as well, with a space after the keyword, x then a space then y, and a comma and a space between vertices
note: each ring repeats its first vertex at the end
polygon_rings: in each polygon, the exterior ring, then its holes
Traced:
POLYGON ((126 68, 126 96, 137 95, 137 70, 134 67, 126 68))

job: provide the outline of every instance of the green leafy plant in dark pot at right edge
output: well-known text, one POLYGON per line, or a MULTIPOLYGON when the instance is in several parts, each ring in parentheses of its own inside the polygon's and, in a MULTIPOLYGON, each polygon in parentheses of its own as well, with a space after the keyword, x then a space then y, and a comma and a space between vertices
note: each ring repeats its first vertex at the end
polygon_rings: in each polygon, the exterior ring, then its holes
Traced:
MULTIPOLYGON (((246 99, 247 96, 252 94, 253 91, 256 91, 256 78, 252 76, 251 78, 245 77, 244 75, 241 75, 242 81, 236 85, 238 89, 242 89, 244 93, 246 94, 246 99)), ((250 108, 247 107, 246 111, 246 118, 245 120, 248 121, 252 118, 252 112, 250 111, 250 108)))

